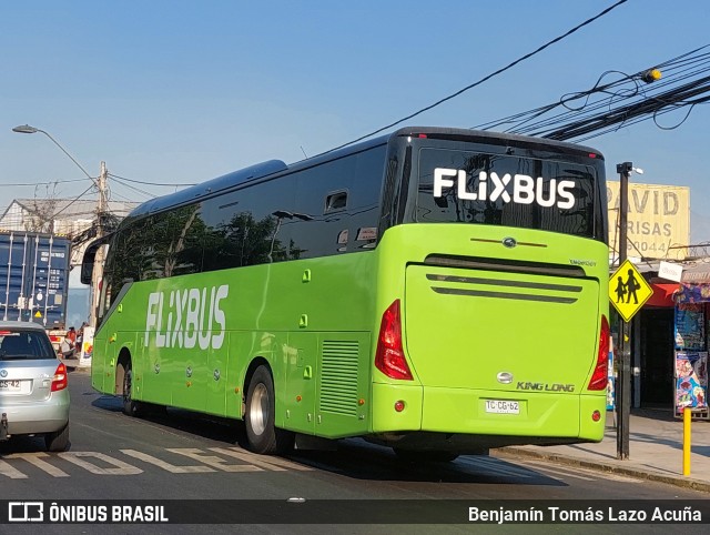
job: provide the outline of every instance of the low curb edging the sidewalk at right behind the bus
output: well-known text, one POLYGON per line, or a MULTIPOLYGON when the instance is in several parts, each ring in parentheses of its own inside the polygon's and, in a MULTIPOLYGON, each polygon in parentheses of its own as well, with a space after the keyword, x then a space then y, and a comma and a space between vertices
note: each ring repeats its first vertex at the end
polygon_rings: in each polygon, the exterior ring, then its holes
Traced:
POLYGON ((523 447, 507 446, 495 450, 495 453, 500 453, 504 456, 516 456, 516 457, 531 457, 531 458, 542 458, 546 461, 551 461, 554 463, 566 464, 568 466, 580 466, 582 468, 591 468, 598 472, 608 472, 613 474, 627 475, 629 477, 636 477, 638 480, 652 481, 657 483, 666 483, 668 485, 674 485, 683 488, 691 488, 693 491, 700 491, 710 493, 710 483, 691 480, 682 476, 667 475, 660 474, 657 472, 650 472, 642 468, 636 468, 632 466, 619 466, 610 463, 601 463, 596 461, 587 461, 579 457, 571 457, 568 455, 560 455, 558 453, 542 453, 536 450, 526 450, 523 447))

